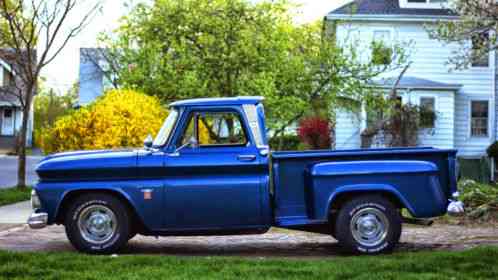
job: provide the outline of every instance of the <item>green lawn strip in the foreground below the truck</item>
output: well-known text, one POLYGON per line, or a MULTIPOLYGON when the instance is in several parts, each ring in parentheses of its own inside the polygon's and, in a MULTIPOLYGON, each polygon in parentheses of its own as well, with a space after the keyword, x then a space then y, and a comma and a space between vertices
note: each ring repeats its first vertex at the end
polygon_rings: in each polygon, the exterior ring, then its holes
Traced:
POLYGON ((1 279, 498 279, 498 247, 329 259, 0 251, 1 279))

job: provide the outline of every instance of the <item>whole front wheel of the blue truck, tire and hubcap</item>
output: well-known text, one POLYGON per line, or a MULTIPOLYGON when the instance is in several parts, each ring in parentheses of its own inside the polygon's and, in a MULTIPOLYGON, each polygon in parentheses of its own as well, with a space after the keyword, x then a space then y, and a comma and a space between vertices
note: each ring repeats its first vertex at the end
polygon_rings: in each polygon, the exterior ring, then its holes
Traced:
POLYGON ((66 235, 81 252, 110 254, 130 236, 130 215, 116 197, 95 193, 78 197, 65 218, 66 235))

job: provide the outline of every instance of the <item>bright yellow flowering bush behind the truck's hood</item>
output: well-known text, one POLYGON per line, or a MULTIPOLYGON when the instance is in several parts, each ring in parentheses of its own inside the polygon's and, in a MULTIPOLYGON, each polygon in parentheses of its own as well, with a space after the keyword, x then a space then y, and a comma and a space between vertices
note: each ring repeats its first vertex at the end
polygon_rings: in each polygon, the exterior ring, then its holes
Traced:
POLYGON ((40 144, 45 153, 140 147, 149 133, 157 134, 166 116, 155 97, 111 90, 44 129, 40 144))

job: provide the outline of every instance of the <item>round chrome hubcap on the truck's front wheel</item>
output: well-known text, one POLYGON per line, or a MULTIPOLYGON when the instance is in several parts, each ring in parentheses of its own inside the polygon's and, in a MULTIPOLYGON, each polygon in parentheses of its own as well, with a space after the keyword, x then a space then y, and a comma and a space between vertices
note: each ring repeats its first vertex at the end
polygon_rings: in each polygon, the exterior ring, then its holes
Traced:
POLYGON ((114 212, 103 205, 85 208, 78 219, 78 227, 83 239, 94 244, 102 244, 116 232, 117 220, 114 212))

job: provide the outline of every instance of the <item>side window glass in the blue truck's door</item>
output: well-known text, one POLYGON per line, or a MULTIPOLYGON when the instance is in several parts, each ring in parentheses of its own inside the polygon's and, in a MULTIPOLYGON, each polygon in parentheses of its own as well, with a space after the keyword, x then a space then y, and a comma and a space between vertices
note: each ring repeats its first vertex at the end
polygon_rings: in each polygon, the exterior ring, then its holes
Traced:
POLYGON ((243 146, 248 143, 239 114, 235 112, 201 112, 190 117, 180 145, 196 138, 200 147, 243 146))

